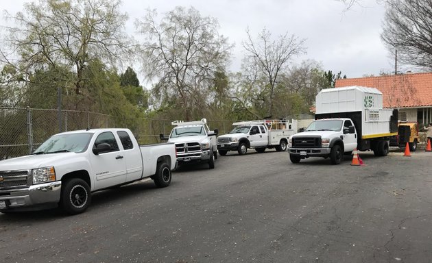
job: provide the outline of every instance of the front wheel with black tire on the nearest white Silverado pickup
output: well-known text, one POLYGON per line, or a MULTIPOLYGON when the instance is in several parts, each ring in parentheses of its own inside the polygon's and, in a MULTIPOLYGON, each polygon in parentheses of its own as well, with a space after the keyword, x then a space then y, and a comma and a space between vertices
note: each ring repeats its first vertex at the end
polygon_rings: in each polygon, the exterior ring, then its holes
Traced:
POLYGON ((80 214, 91 203, 90 186, 80 178, 68 179, 62 186, 60 205, 68 214, 80 214))

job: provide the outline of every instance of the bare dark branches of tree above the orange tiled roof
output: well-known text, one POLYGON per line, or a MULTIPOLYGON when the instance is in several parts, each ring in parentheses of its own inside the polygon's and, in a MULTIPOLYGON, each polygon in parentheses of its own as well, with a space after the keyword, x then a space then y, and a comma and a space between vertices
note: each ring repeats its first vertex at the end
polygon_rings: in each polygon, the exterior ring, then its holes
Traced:
POLYGON ((432 0, 390 0, 382 40, 398 60, 432 68, 432 0))

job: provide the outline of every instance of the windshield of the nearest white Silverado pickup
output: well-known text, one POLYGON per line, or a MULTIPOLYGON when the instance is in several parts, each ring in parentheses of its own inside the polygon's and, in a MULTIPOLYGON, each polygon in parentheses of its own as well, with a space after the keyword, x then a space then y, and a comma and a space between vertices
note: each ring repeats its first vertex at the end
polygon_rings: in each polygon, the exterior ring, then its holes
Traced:
POLYGON ((82 153, 83 151, 86 151, 92 136, 93 134, 91 133, 55 135, 43 142, 43 144, 40 145, 33 154, 61 153, 69 151, 82 153))

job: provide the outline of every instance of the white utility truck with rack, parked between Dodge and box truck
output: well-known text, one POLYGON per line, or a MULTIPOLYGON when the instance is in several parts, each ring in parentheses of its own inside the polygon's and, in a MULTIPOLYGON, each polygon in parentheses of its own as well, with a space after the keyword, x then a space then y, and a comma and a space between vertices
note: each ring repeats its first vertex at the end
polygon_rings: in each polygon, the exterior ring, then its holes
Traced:
POLYGON ((217 137, 217 150, 220 155, 228 151, 237 151, 239 155, 255 149, 263 153, 265 149, 276 148, 286 151, 288 138, 297 132, 297 122, 285 120, 241 121, 228 134, 217 137))

